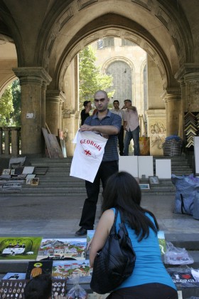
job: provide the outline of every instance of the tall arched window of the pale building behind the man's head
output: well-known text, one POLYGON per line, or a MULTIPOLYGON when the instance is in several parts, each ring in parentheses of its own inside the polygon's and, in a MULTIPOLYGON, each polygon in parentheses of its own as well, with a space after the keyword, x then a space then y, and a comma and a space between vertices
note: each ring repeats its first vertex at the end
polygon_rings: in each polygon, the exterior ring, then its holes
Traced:
POLYGON ((124 61, 114 61, 108 66, 106 73, 113 77, 113 86, 110 90, 115 90, 113 98, 119 100, 122 107, 125 99, 132 100, 131 68, 124 61))

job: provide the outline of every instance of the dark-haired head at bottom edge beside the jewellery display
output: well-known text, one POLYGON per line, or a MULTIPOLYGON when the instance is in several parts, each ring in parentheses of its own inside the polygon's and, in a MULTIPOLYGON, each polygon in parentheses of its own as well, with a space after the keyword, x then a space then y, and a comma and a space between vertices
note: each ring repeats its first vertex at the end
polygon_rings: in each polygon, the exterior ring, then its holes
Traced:
POLYGON ((50 299, 52 278, 49 274, 40 274, 28 281, 24 288, 24 299, 50 299))

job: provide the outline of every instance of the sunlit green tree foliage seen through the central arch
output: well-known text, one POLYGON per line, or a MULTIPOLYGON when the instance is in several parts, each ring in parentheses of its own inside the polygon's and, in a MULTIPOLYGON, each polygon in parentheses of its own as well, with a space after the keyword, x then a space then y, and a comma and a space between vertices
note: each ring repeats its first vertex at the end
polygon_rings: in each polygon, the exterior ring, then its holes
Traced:
MULTIPOLYGON (((95 51, 91 46, 85 47, 79 54, 79 96, 80 109, 85 100, 93 101, 93 95, 97 90, 107 90, 112 86, 112 76, 103 74, 100 67, 95 65, 97 60, 95 51)), ((108 93, 109 98, 114 94, 114 90, 108 93)))

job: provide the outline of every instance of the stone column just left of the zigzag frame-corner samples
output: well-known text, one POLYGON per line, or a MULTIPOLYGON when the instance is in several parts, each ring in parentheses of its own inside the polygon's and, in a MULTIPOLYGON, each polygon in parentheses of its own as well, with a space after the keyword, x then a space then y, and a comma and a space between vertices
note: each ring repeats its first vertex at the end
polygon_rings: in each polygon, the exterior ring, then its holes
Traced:
POLYGON ((181 114, 181 89, 166 88, 161 96, 166 105, 166 136, 178 135, 181 114))

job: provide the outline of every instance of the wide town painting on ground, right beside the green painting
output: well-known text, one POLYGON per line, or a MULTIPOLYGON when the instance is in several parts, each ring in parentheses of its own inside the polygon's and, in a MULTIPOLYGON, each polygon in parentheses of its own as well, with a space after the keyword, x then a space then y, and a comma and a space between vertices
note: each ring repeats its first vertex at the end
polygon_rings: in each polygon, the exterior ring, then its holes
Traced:
POLYGON ((37 261, 83 260, 87 246, 86 238, 43 238, 37 261))

